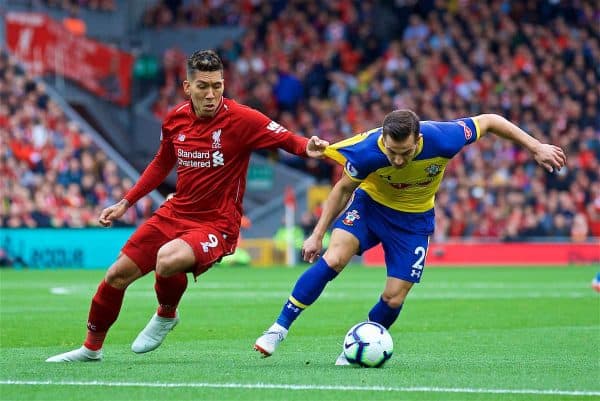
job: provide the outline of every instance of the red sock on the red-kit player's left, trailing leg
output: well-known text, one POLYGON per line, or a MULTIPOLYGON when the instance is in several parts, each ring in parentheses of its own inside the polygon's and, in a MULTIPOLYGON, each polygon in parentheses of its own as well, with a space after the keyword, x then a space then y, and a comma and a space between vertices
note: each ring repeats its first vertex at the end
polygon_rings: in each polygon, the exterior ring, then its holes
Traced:
POLYGON ((102 280, 92 299, 90 313, 88 315, 88 333, 83 345, 97 351, 102 348, 106 332, 117 320, 125 290, 112 287, 102 280))

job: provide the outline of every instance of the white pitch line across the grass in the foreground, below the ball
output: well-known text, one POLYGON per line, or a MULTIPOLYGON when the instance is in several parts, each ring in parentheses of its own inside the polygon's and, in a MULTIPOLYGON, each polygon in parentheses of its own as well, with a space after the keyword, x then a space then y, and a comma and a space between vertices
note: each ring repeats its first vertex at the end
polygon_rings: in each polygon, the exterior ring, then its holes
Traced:
POLYGON ((144 383, 103 381, 51 381, 51 380, 0 380, 0 385, 30 386, 99 386, 99 387, 158 387, 158 388, 233 388, 251 390, 300 390, 300 391, 380 391, 399 393, 475 393, 475 394, 533 394, 600 396, 600 391, 586 390, 534 390, 494 388, 446 388, 446 387, 385 387, 385 386, 328 386, 309 384, 275 383, 144 383))

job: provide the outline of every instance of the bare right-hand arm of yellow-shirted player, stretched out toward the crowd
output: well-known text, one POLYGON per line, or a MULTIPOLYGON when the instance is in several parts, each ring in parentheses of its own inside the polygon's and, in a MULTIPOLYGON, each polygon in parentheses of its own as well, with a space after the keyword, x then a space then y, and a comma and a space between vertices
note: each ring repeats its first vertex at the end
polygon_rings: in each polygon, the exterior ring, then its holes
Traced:
POLYGON ((497 114, 474 117, 482 133, 490 131, 526 148, 533 159, 549 172, 560 170, 567 163, 565 152, 556 145, 541 143, 521 128, 497 114))

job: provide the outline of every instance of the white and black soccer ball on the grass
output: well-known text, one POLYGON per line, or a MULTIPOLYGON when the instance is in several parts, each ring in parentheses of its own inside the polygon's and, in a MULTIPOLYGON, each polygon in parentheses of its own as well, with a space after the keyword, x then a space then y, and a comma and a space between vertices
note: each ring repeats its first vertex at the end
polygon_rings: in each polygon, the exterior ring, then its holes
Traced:
POLYGON ((343 347, 350 364, 379 368, 392 357, 394 342, 390 333, 379 323, 362 322, 348 330, 343 347))

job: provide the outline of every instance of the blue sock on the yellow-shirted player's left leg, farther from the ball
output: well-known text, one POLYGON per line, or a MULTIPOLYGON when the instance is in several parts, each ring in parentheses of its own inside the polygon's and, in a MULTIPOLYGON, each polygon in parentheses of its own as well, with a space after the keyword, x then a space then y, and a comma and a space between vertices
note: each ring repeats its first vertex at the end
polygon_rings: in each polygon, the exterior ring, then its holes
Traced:
POLYGON ((329 267, 325 259, 317 260, 317 263, 302 273, 296 281, 292 295, 283 306, 277 323, 289 329, 300 313, 319 298, 327 283, 337 275, 338 273, 329 267))

